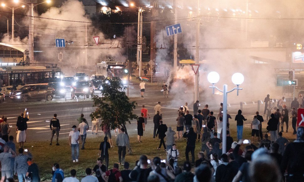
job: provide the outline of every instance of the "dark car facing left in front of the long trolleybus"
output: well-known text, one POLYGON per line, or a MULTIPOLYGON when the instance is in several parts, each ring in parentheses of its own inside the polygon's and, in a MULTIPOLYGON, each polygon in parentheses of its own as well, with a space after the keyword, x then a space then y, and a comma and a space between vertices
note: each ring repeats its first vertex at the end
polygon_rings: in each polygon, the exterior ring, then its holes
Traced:
POLYGON ((55 89, 48 83, 28 84, 9 94, 9 98, 16 101, 28 100, 53 100, 53 91, 55 89))

